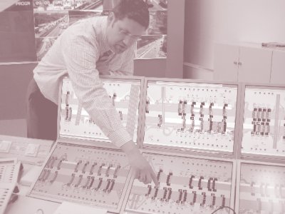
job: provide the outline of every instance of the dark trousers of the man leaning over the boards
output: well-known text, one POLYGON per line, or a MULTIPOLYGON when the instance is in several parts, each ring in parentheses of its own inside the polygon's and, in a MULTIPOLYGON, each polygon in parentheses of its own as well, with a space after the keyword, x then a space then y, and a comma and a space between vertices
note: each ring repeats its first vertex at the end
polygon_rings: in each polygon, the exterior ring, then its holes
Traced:
POLYGON ((26 95, 28 138, 56 141, 58 106, 43 96, 34 79, 26 95))

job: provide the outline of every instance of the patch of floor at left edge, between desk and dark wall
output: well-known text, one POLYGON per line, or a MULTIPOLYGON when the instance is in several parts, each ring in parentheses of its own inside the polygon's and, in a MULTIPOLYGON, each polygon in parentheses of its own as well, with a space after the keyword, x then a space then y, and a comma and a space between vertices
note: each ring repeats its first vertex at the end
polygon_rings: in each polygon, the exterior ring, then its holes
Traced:
POLYGON ((26 137, 26 119, 0 120, 0 135, 26 137))

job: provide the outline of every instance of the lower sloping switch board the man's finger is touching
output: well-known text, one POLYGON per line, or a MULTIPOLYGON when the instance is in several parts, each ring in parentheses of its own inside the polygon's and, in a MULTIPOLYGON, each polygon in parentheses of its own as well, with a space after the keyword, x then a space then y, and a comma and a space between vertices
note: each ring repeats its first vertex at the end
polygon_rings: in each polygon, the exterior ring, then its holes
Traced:
POLYGON ((212 213, 221 206, 233 208, 235 166, 232 162, 157 153, 143 153, 143 156, 157 172, 160 186, 134 180, 125 211, 188 214, 212 213))

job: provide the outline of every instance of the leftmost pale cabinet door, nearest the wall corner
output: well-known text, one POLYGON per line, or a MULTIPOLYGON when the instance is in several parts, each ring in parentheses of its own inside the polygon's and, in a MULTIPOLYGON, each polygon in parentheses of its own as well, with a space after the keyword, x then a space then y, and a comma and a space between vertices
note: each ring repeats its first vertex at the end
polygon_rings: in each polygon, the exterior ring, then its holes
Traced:
POLYGON ((214 79, 237 81, 239 47, 229 44, 215 44, 214 79))

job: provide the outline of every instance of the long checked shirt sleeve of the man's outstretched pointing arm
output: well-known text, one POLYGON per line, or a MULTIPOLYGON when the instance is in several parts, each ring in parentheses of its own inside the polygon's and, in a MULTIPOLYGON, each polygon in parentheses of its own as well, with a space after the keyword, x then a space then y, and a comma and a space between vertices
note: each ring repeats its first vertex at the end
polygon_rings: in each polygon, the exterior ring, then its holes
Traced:
POLYGON ((78 101, 93 121, 115 146, 131 141, 100 81, 95 66, 99 56, 98 44, 90 42, 84 35, 65 34, 61 37, 61 51, 78 101))

